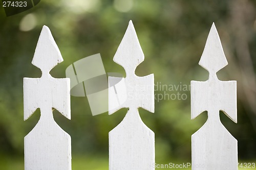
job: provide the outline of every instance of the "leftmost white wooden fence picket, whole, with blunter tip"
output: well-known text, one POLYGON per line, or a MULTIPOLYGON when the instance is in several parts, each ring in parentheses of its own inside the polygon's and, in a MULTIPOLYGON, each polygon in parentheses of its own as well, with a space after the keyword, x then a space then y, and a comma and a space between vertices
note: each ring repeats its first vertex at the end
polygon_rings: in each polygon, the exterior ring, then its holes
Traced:
POLYGON ((54 121, 52 108, 67 118, 70 111, 70 79, 55 79, 50 70, 63 59, 48 27, 42 28, 32 64, 41 78, 24 78, 24 120, 37 108, 41 116, 25 137, 25 170, 71 170, 71 137, 54 121))

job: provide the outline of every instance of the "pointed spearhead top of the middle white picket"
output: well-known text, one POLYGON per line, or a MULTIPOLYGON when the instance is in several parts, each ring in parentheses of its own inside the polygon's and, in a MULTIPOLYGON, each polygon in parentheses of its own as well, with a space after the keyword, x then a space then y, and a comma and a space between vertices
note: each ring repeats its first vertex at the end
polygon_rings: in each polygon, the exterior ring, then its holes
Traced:
POLYGON ((125 69, 126 75, 129 75, 129 73, 134 74, 136 67, 144 61, 144 54, 132 20, 129 21, 129 26, 113 60, 125 69))

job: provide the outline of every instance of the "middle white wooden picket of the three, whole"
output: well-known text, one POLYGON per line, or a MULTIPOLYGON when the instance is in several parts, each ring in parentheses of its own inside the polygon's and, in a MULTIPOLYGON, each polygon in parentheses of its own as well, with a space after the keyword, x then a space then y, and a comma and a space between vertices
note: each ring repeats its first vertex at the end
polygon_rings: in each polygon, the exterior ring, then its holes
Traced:
POLYGON ((109 77, 109 114, 120 108, 129 108, 122 122, 109 133, 109 169, 155 169, 155 134, 142 122, 138 108, 154 112, 154 75, 138 77, 136 67, 144 60, 132 21, 114 56, 126 77, 109 77), (114 103, 114 104, 113 104, 114 103), (116 108, 113 108, 116 106, 116 108))

